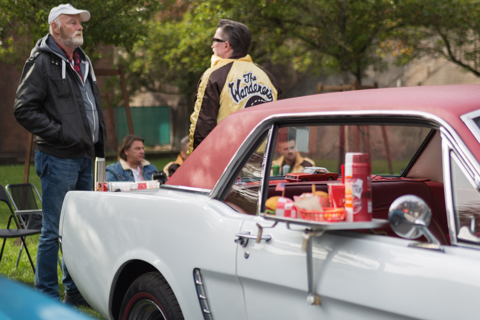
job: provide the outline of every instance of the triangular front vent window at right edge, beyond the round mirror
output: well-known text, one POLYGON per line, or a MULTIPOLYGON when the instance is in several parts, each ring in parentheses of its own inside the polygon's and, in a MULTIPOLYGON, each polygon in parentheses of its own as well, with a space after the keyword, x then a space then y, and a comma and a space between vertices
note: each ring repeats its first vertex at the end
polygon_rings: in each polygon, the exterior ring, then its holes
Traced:
POLYGON ((465 167, 451 152, 450 172, 457 239, 478 243, 480 240, 480 195, 473 187, 470 175, 465 171, 465 167))

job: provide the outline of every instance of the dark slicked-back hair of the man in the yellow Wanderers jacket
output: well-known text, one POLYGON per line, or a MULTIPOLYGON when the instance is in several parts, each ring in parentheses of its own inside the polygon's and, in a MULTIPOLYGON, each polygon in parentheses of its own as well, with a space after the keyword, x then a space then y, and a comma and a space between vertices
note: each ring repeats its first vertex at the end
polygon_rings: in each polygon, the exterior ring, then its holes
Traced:
POLYGON ((233 49, 234 56, 246 56, 248 49, 252 44, 252 33, 245 24, 240 22, 221 19, 217 28, 222 29, 222 36, 230 44, 233 49))

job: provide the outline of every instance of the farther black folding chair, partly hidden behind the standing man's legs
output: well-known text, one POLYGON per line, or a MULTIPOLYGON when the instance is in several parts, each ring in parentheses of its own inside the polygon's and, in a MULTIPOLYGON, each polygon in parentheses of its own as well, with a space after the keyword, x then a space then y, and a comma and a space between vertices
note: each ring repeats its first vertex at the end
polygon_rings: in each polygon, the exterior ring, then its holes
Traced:
MULTIPOLYGON (((20 184, 8 184, 5 186, 8 197, 12 202, 15 213, 18 216, 18 220, 23 225, 24 229, 38 229, 42 228, 42 209, 38 209, 34 190, 40 203, 42 203, 42 197, 36 187, 31 183, 20 184)), ((20 262, 24 245, 20 246, 20 251, 17 257, 17 267, 20 262)), ((60 257, 57 256, 57 260, 61 266, 60 257)))

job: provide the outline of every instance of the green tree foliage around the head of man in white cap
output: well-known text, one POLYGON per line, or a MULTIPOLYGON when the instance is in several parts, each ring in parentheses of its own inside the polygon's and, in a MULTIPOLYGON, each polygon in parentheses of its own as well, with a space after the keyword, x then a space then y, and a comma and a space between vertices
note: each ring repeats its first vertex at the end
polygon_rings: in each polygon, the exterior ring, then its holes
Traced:
MULTIPOLYGON (((70 4, 91 14, 83 23, 84 49, 94 59, 103 55, 99 45, 132 50, 159 7, 155 0, 72 0, 70 4)), ((36 41, 48 34, 48 14, 57 5, 59 1, 53 0, 0 0, 0 59, 23 63, 36 41)))

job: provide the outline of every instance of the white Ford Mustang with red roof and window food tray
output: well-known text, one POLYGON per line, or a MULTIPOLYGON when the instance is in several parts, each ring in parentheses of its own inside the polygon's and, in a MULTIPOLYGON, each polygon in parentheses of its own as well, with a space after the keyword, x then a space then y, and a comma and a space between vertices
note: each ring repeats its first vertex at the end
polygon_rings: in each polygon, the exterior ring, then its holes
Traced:
MULTIPOLYGON (((67 193, 65 263, 108 319, 476 318, 479 117, 478 85, 238 111, 160 189, 67 193), (296 149, 282 151, 292 140, 296 149), (339 173, 354 151, 372 158, 372 223, 263 215, 283 179, 270 177, 272 161, 308 157, 339 173)), ((286 183, 285 197, 311 184, 286 183)))

